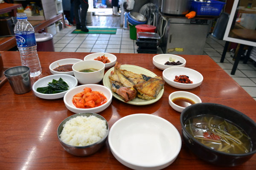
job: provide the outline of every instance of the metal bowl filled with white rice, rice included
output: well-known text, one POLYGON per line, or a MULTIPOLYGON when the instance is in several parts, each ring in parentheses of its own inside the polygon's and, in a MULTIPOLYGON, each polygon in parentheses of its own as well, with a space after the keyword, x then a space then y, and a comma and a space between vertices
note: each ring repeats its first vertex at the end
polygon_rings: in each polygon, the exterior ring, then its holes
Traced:
POLYGON ((58 126, 61 146, 75 156, 96 153, 108 137, 108 122, 96 113, 78 113, 67 117, 58 126))

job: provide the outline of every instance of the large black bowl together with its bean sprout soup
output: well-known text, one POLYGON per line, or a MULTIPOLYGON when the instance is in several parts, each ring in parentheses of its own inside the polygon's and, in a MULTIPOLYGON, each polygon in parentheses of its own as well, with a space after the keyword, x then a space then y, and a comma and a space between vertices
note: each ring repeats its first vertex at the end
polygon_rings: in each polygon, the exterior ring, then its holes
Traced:
POLYGON ((236 166, 256 153, 256 123, 245 114, 215 103, 196 103, 180 114, 189 150, 218 166, 236 166))

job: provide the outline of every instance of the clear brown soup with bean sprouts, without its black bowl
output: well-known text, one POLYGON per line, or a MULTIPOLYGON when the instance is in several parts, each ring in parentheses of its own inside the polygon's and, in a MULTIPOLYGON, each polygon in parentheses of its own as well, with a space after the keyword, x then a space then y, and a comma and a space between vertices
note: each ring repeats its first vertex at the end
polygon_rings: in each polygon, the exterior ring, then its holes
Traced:
POLYGON ((199 142, 218 151, 242 154, 252 149, 251 139, 244 130, 218 116, 194 116, 185 122, 185 127, 199 142))

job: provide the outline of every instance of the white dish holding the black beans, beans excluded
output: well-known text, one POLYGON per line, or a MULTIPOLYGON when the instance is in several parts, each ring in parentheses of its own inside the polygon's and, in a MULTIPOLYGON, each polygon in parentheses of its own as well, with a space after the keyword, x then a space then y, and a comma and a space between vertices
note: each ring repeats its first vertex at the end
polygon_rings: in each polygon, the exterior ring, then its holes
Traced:
MULTIPOLYGON (((170 61, 169 61, 170 62, 170 61)), ((158 54, 153 57, 153 64, 159 68, 160 70, 164 70, 166 68, 170 67, 185 67, 186 65, 186 59, 183 57, 173 55, 173 54, 158 54), (172 58, 172 61, 180 61, 181 65, 164 65, 169 59, 172 58)))

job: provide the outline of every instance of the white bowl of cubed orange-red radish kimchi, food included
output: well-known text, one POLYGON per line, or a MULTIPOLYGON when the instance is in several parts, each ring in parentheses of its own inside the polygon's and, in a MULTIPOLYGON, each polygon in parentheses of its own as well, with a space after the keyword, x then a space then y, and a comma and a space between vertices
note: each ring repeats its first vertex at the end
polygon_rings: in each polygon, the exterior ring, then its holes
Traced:
POLYGON ((64 95, 64 103, 74 113, 99 113, 112 102, 112 92, 103 85, 87 84, 70 89, 64 95))

